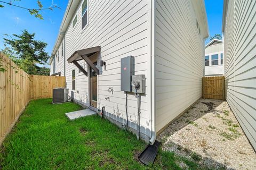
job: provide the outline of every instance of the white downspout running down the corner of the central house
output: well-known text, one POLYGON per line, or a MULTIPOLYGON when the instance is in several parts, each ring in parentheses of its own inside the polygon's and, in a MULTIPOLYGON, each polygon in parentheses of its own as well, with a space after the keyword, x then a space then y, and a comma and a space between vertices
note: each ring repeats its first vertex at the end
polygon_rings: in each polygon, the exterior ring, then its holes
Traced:
POLYGON ((156 140, 155 128, 155 1, 151 1, 151 37, 150 37, 150 62, 151 62, 151 139, 149 144, 153 145, 156 140))

